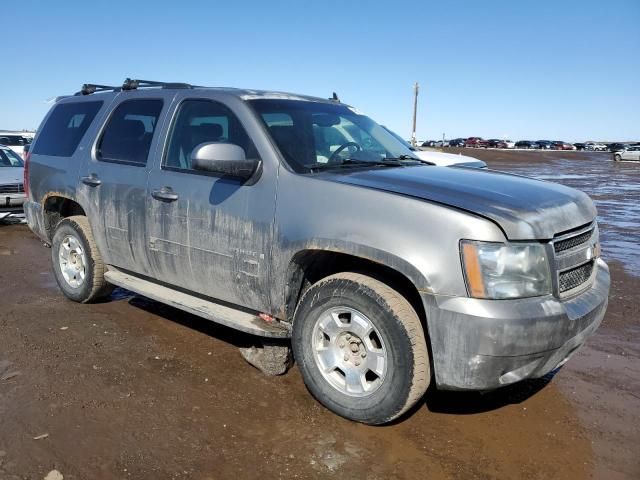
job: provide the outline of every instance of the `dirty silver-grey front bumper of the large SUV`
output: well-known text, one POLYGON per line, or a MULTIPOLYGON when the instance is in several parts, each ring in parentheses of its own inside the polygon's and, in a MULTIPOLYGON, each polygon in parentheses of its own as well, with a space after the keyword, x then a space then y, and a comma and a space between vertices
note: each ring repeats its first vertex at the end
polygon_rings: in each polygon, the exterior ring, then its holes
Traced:
POLYGON ((480 300, 423 294, 436 384, 491 390, 562 365, 600 325, 610 276, 598 259, 591 287, 565 300, 480 300))

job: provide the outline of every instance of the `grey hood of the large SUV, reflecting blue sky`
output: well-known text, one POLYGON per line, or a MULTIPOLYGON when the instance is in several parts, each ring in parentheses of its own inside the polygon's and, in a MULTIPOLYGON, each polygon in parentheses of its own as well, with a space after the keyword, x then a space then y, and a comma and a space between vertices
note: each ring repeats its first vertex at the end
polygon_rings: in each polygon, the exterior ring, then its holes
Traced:
POLYGON ((493 220, 510 240, 549 240, 596 217, 579 190, 492 170, 416 166, 327 173, 325 179, 465 210, 493 220))

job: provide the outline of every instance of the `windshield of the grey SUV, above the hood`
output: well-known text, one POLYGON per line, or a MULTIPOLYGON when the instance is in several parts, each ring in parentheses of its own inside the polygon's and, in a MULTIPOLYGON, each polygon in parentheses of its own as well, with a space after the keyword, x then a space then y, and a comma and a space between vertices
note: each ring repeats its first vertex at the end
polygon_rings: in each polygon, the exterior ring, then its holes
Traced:
POLYGON ((297 172, 424 163, 405 142, 346 105, 266 99, 249 103, 287 163, 297 172))

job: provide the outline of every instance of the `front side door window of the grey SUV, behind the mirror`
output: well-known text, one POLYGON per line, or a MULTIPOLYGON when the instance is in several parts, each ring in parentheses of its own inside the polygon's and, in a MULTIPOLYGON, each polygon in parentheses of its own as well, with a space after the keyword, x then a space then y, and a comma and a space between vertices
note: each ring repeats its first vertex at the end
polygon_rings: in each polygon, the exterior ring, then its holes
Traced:
POLYGON ((211 100, 186 100, 171 128, 162 167, 192 170, 191 152, 208 142, 233 143, 244 149, 247 158, 258 156, 240 120, 228 107, 211 100))

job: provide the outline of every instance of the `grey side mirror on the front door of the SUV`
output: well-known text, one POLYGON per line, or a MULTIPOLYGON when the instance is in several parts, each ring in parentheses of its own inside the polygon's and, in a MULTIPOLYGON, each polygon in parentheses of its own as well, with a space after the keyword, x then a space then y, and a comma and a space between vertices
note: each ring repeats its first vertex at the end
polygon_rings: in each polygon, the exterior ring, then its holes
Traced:
POLYGON ((244 149, 233 143, 201 143, 191 152, 191 166, 195 170, 223 176, 247 180, 253 176, 259 165, 260 160, 247 160, 244 149))

